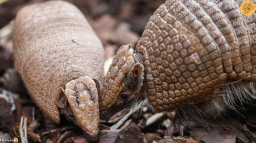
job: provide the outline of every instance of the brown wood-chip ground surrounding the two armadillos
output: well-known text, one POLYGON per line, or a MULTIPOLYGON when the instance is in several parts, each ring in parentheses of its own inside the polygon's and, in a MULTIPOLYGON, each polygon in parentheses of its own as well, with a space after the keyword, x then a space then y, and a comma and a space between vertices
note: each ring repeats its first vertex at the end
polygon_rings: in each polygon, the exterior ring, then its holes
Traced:
MULTIPOLYGON (((89 142, 78 127, 67 121, 56 125, 48 120, 30 98, 14 70, 12 30, 16 13, 25 5, 42 0, 0 0, 0 142, 1 138, 20 142, 20 127, 27 124, 28 142, 89 142), (20 126, 21 125, 21 126, 20 126)), ((163 0, 68 0, 85 14, 105 49, 105 59, 113 57, 123 44, 135 46, 148 19, 163 0)), ((174 125, 175 112, 156 113, 149 107, 122 110, 101 121, 97 142, 255 142, 256 107, 226 112, 212 128, 195 127, 181 132, 174 125)))

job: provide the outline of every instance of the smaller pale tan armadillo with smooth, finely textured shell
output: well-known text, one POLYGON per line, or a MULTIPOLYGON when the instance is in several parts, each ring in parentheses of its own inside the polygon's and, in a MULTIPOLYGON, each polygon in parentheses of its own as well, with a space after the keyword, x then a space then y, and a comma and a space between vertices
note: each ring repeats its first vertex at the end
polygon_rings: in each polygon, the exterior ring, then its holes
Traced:
POLYGON ((13 42, 16 71, 36 105, 55 123, 64 114, 97 139, 104 51, 81 11, 64 1, 26 6, 13 42))

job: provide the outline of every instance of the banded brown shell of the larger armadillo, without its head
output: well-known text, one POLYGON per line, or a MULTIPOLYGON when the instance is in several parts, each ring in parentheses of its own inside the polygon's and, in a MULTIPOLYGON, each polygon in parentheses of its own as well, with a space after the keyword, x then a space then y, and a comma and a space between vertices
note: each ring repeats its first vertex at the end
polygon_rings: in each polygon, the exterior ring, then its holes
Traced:
POLYGON ((135 49, 151 105, 172 111, 215 98, 229 81, 254 82, 255 21, 233 0, 167 0, 135 49))

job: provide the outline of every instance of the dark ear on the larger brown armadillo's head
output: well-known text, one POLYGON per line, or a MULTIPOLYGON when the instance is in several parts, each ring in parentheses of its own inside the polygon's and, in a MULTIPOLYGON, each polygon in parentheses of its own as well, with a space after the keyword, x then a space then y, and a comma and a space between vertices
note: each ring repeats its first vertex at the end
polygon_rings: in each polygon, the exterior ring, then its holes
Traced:
POLYGON ((144 66, 141 63, 135 63, 125 80, 126 87, 136 93, 141 91, 144 80, 144 66))

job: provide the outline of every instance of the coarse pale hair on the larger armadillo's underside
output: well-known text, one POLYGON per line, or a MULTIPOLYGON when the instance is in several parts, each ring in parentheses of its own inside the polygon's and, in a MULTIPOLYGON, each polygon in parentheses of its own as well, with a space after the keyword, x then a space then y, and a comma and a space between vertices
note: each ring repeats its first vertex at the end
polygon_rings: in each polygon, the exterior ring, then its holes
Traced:
POLYGON ((241 111, 246 110, 245 103, 252 103, 256 99, 253 83, 234 81, 222 85, 225 85, 225 90, 215 92, 216 98, 176 110, 177 119, 175 122, 188 128, 194 126, 208 128, 213 123, 213 119, 224 119, 225 114, 223 113, 228 110, 233 110, 238 115, 243 116, 241 111))

